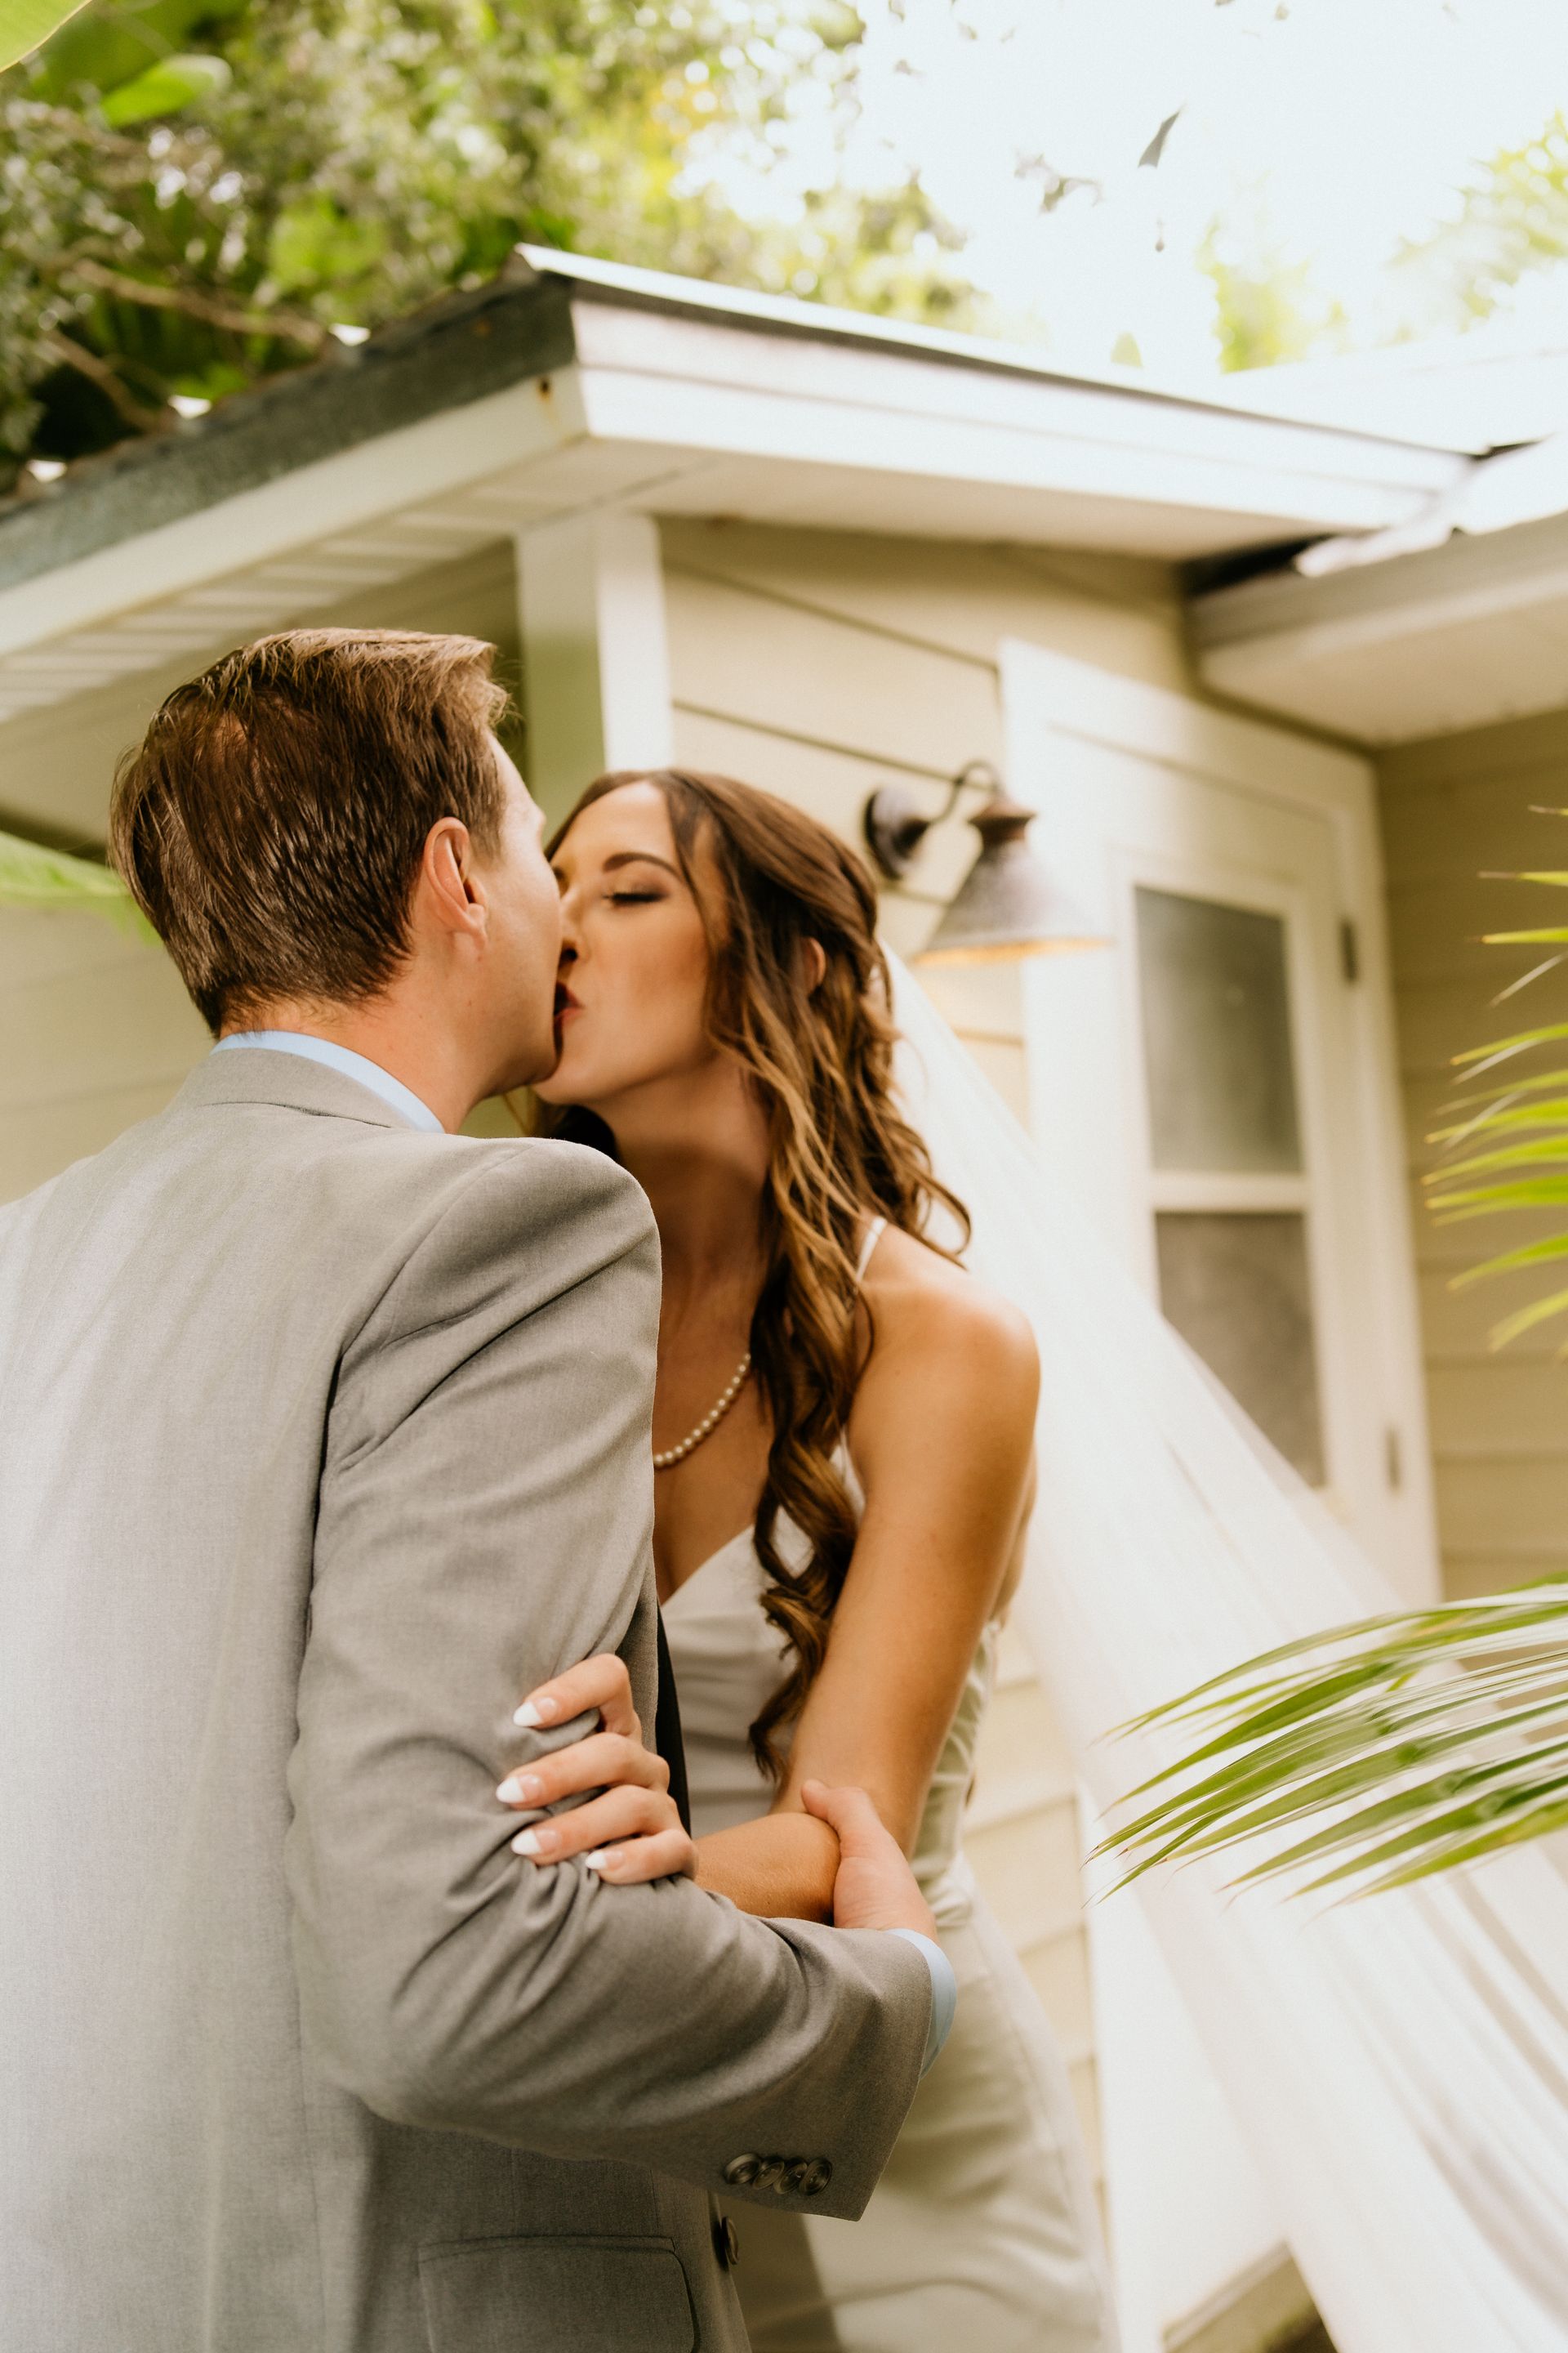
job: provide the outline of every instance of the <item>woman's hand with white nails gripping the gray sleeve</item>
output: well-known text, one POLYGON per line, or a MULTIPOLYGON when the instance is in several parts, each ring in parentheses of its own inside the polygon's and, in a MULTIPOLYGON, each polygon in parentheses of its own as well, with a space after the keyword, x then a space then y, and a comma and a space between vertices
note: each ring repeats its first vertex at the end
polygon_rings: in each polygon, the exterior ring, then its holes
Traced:
POLYGON ((520 1765, 496 1795, 501 1805, 529 1814, 583 1791, 599 1795, 529 1824, 512 1849, 538 1866, 581 1854, 590 1871, 616 1887, 696 1878, 696 1842, 675 1812, 670 1767, 642 1741, 630 1675, 614 1652, 583 1659, 552 1682, 541 1682, 517 1708, 515 1722, 543 1729, 595 1711, 597 1732, 536 1765, 520 1765))

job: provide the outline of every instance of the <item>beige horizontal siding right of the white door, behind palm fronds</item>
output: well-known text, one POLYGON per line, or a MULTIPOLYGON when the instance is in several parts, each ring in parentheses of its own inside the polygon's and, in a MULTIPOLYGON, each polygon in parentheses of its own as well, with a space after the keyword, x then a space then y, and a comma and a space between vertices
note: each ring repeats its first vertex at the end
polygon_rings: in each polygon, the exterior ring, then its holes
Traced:
POLYGON ((1502 1315, 1561 1287, 1552 1266, 1460 1292, 1450 1285, 1568 1217, 1443 1228, 1420 1179, 1439 1162, 1432 1129, 1458 1118, 1441 1106, 1476 1085, 1455 1073, 1453 1056, 1568 1019, 1563 972, 1490 1002, 1549 948, 1481 941, 1483 932, 1568 922, 1568 894, 1495 880, 1568 868, 1568 821, 1535 814, 1568 805, 1568 711, 1389 751, 1380 805, 1443 1581, 1450 1593, 1488 1593, 1568 1574, 1568 1365, 1556 1360, 1568 1325, 1502 1353, 1490 1346, 1502 1315))

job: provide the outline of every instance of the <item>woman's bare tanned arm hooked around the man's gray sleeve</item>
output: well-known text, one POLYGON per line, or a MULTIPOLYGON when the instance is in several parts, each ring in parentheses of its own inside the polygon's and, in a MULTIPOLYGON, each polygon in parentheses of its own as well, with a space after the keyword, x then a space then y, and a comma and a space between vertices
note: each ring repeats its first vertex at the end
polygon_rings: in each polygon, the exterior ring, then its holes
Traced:
MULTIPOLYGON (((804 1781, 867 1791, 912 1852, 980 1631, 1016 1581, 1030 1506, 1039 1369, 1025 1320, 907 1235, 886 1235, 877 1268, 877 1346, 851 1417, 865 1518, 827 1657, 773 1809, 696 1842, 698 1882, 762 1918, 832 1918, 837 1838, 804 1809, 804 1781)), ((604 1668, 585 1661, 545 1687, 571 1701, 557 1701, 555 1720, 597 1704, 578 1678, 604 1668)), ((590 1741, 557 1751, 552 1779, 571 1779, 550 1798, 599 1786, 592 1765, 590 1741)), ((555 1826, 576 1849, 571 1817, 555 1826)), ((656 1875, 663 1845, 637 1849, 625 1838, 625 1861, 607 1875, 656 1875)))

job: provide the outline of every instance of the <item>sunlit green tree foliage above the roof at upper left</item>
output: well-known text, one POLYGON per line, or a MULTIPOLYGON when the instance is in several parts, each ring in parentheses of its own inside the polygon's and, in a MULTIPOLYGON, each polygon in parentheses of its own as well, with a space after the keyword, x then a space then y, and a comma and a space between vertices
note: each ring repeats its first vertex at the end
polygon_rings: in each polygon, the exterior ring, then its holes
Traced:
MULTIPOLYGON (((92 0, 0 78, 0 452, 73 459, 520 240, 952 315, 914 186, 748 224, 722 162, 853 115, 842 0, 92 0)), ((5 475, 0 473, 0 487, 5 475)))

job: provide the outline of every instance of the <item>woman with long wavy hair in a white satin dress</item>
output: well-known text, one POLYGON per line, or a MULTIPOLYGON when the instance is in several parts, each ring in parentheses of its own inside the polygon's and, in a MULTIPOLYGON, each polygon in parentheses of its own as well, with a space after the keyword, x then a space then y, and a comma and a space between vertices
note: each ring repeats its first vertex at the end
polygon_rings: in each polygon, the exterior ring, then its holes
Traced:
MULTIPOLYGON (((752 2346, 1107 2353, 1067 2078, 959 1847, 1032 1501, 1034 1341, 961 1271, 964 1209, 896 1108, 870 875, 788 802, 684 769, 599 776, 550 856, 541 1125, 614 1151, 663 1240, 654 1553, 696 1845, 628 1784, 555 1814, 534 1859, 592 1847, 611 1880, 691 1868, 825 1920, 839 1842, 802 1791, 867 1791, 957 2021, 858 2224, 741 2214, 752 2346)), ((609 1708, 616 1673, 588 1661, 538 1718, 609 1708)))

